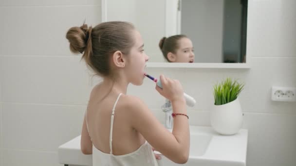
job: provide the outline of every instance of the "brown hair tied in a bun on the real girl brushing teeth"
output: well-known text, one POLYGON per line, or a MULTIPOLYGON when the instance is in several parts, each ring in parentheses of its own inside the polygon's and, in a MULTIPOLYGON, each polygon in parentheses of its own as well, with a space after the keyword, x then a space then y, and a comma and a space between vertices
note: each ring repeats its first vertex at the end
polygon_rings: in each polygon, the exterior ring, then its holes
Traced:
POLYGON ((83 24, 70 28, 66 38, 73 53, 82 53, 87 65, 99 76, 106 77, 111 75, 111 55, 117 50, 127 55, 134 45, 132 30, 131 23, 122 21, 103 22, 94 28, 83 24))

